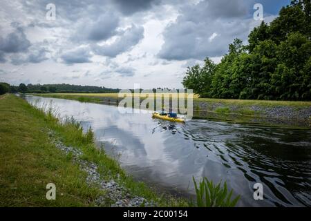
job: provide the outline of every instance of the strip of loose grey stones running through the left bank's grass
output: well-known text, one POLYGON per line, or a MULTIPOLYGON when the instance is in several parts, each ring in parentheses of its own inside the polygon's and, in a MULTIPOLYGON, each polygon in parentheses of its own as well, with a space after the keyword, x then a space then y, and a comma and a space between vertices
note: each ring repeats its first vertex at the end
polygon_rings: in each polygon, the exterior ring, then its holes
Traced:
POLYGON ((148 202, 145 198, 132 195, 129 190, 117 182, 117 180, 113 180, 113 178, 104 180, 97 171, 97 164, 80 159, 80 156, 83 155, 82 151, 73 146, 66 146, 57 138, 53 131, 49 131, 48 135, 51 142, 53 142, 57 148, 66 155, 71 154, 73 162, 78 164, 82 171, 86 172, 86 183, 89 186, 99 186, 99 188, 106 193, 105 195, 100 195, 100 197, 94 201, 96 206, 106 206, 107 202, 110 202, 109 204, 111 207, 156 206, 155 202, 148 202))

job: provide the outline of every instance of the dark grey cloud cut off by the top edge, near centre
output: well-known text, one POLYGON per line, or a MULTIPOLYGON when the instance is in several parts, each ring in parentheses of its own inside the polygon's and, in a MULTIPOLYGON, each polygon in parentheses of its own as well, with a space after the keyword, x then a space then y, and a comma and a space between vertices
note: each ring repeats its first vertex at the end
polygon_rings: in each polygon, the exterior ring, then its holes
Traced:
POLYGON ((149 10, 160 0, 114 0, 115 5, 123 15, 132 15, 135 12, 149 10))

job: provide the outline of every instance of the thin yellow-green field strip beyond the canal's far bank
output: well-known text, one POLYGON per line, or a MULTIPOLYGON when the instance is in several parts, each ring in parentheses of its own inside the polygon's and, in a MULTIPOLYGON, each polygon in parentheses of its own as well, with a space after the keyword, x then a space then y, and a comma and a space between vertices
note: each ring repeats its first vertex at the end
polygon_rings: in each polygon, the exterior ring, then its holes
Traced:
MULTIPOLYGON (((37 94, 45 97, 59 96, 59 97, 112 97, 117 98, 118 93, 49 93, 49 94, 37 94)), ((165 95, 164 95, 165 96, 165 95)), ((168 96, 168 95, 167 95, 168 96)), ((178 93, 173 93, 173 97, 177 97, 178 93)), ((141 93, 140 97, 146 97, 146 94, 141 93)), ((166 96, 165 96, 166 97, 166 96)), ((198 95, 194 95, 195 102, 207 102, 207 103, 222 103, 222 104, 234 104, 234 105, 259 105, 259 106, 296 106, 296 107, 311 107, 311 102, 294 102, 294 101, 265 101, 265 100, 253 100, 253 99, 214 99, 214 98, 200 98, 198 95)))

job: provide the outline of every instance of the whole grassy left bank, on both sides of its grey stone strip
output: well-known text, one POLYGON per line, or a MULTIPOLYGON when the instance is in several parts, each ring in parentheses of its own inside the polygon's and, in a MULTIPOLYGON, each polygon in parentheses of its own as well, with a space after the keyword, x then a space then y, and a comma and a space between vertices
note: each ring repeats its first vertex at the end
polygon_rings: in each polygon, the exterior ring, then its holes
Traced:
MULTIPOLYGON (((164 197, 135 182, 73 122, 61 124, 51 113, 45 114, 14 95, 0 97, 0 119, 0 206, 94 206, 94 200, 105 195, 98 186, 86 184, 86 173, 70 155, 55 147, 49 131, 82 151, 82 160, 95 162, 103 179, 113 177, 131 194, 159 206, 187 206, 185 200, 164 197), (46 200, 50 182, 57 187, 56 200, 46 200)), ((106 206, 110 204, 107 198, 106 206)))

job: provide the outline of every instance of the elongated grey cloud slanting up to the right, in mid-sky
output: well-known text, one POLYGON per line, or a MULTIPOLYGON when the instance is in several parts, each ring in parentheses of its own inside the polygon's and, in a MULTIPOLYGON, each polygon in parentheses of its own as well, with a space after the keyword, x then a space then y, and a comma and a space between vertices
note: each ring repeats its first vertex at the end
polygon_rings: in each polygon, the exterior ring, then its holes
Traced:
POLYGON ((122 35, 116 39, 112 44, 104 46, 93 46, 96 55, 103 55, 107 57, 116 57, 122 52, 131 50, 133 46, 138 44, 144 37, 144 28, 138 26, 131 26, 124 30, 122 35))

